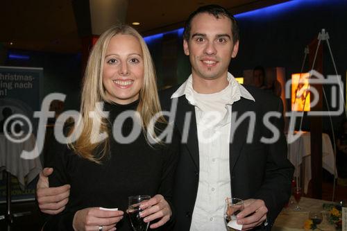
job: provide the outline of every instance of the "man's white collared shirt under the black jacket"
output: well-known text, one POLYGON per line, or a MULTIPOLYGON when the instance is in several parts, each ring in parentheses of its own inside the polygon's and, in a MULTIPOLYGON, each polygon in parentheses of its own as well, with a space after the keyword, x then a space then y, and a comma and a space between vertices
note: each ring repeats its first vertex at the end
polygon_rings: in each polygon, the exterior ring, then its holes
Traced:
POLYGON ((229 85, 221 92, 199 94, 194 91, 192 75, 171 99, 185 95, 195 106, 198 132, 199 181, 192 215, 191 231, 226 230, 223 220, 225 199, 231 196, 229 140, 232 103, 253 96, 228 73, 229 85))

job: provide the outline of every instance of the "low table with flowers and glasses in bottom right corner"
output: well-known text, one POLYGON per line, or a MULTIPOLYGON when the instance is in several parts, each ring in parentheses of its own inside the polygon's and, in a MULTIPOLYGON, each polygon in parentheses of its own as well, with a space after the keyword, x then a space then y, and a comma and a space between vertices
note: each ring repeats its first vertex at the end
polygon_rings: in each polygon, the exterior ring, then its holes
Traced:
MULTIPOLYGON (((294 200, 295 201, 295 200, 294 200)), ((273 231, 299 231, 305 230, 304 223, 308 219, 309 212, 322 212, 323 221, 318 225, 321 230, 335 230, 334 225, 330 225, 327 221, 327 211, 323 210, 324 203, 331 203, 326 200, 317 200, 313 198, 302 197, 299 203, 301 210, 294 210, 296 202, 289 207, 282 209, 280 215, 278 215, 275 223, 273 224, 273 231)))

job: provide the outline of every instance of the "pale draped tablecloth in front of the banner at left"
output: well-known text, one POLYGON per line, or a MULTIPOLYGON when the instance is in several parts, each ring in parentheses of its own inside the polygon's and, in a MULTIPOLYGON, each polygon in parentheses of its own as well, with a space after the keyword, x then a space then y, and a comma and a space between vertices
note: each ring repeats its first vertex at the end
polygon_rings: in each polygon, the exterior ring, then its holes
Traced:
POLYGON ((35 141, 33 134, 25 142, 19 144, 10 142, 5 135, 0 134, 0 171, 6 170, 16 176, 22 189, 42 170, 40 157, 33 160, 25 160, 20 157, 23 150, 32 151, 34 149, 35 141))

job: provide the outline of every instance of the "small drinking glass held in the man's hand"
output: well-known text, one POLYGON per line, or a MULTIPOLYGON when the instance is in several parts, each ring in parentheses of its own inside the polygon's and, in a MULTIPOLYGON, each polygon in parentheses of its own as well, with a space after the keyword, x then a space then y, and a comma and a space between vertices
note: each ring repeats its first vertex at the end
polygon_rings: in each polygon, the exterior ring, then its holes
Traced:
POLYGON ((236 216, 244 210, 244 201, 239 198, 226 198, 226 205, 224 207, 224 221, 228 231, 241 230, 242 225, 236 223, 236 216), (237 229, 239 228, 239 229, 237 229))

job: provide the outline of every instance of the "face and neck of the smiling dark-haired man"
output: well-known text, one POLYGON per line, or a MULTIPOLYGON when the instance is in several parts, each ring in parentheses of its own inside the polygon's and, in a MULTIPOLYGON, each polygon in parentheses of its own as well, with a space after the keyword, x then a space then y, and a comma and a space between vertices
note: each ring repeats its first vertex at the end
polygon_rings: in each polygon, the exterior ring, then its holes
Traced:
POLYGON ((232 39, 231 21, 204 12, 193 17, 191 25, 183 47, 192 64, 194 90, 202 94, 220 92, 228 86, 228 66, 239 49, 239 40, 232 39))

